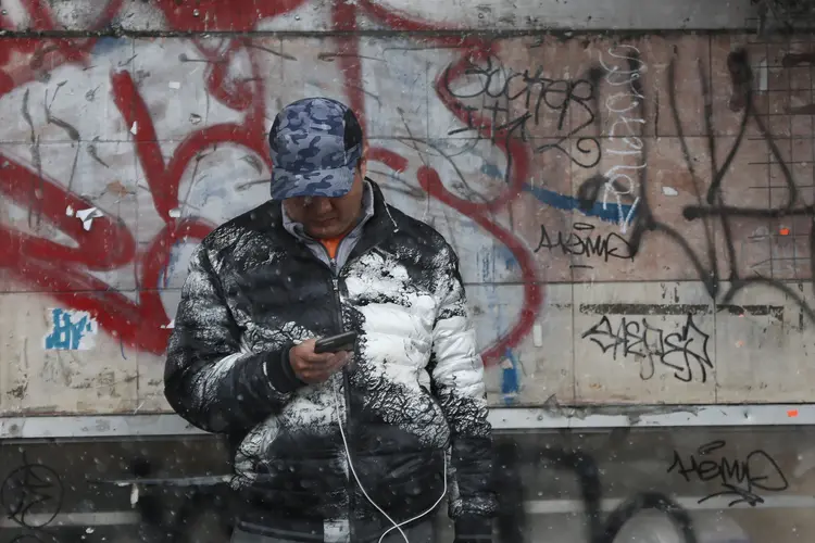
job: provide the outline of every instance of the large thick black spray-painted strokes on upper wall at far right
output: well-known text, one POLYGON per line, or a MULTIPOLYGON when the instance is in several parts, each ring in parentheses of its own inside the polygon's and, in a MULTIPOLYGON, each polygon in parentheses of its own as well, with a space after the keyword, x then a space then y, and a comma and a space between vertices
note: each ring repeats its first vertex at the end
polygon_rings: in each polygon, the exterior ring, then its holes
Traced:
MULTIPOLYGON (((677 54, 677 51, 675 51, 677 54)), ((630 52, 629 56, 634 59, 632 62, 637 61, 637 53, 630 52)), ((744 85, 744 80, 752 80, 752 73, 748 54, 743 50, 735 51, 730 53, 727 65, 734 84, 735 98, 731 103, 735 102, 736 106, 741 105, 743 100, 744 108, 741 115, 739 132, 735 138, 731 148, 728 150, 726 157, 722 164, 717 160, 717 140, 714 136, 713 129, 713 99, 711 96, 710 83, 707 77, 699 66, 699 79, 702 86, 702 94, 704 96, 704 122, 705 131, 707 134, 707 150, 709 160, 711 161, 711 171, 713 172, 713 178, 710 181, 707 189, 704 189, 703 180, 695 166, 694 159, 691 156, 691 152, 688 146, 688 139, 682 130, 682 124, 679 115, 679 108, 676 98, 676 60, 673 59, 668 67, 668 97, 670 103, 672 116, 677 129, 677 136, 679 138, 682 156, 685 160, 686 167, 690 177, 693 181, 693 190, 698 200, 698 205, 690 205, 684 209, 682 214, 687 220, 701 220, 704 228, 704 243, 706 250, 705 255, 702 256, 691 248, 690 243, 673 227, 665 224, 656 218, 653 210, 650 205, 650 199, 648 194, 648 168, 640 168, 637 171, 639 177, 639 191, 636 197, 632 194, 626 194, 627 190, 624 186, 619 186, 617 193, 624 195, 624 200, 637 204, 637 214, 632 219, 632 228, 630 230, 629 243, 631 247, 631 254, 634 256, 639 252, 642 245, 642 240, 647 233, 661 233, 667 239, 675 242, 687 258, 691 262, 693 268, 697 272, 699 279, 704 283, 707 293, 711 298, 718 303, 729 304, 734 298, 743 289, 754 285, 765 285, 776 290, 781 291, 789 299, 794 300, 801 307, 803 313, 812 320, 815 320, 815 311, 804 301, 803 295, 800 292, 795 292, 790 286, 763 276, 755 277, 741 277, 737 268, 736 261, 736 249, 734 243, 734 233, 730 220, 732 218, 781 218, 791 216, 806 216, 810 218, 815 217, 815 207, 812 205, 804 205, 801 203, 798 187, 795 186, 792 173, 789 166, 782 159, 782 155, 775 142, 775 139, 767 130, 764 121, 756 113, 752 100, 752 89, 749 85, 744 85), (740 93, 745 93, 741 96, 740 93), (741 142, 744 139, 747 131, 748 122, 753 121, 765 140, 772 162, 777 164, 781 176, 783 178, 783 185, 788 191, 788 198, 786 203, 778 207, 738 207, 727 205, 724 201, 722 193, 723 182, 729 172, 730 165, 734 162, 737 151, 739 150, 741 142), (719 264, 716 255, 716 245, 714 242, 714 220, 719 220, 722 226, 722 233, 724 237, 725 251, 727 255, 727 275, 723 278, 719 273, 719 264), (705 264, 706 262, 706 264, 705 264), (726 280, 730 285, 726 289, 722 282, 726 280)), ((639 78, 631 78, 630 86, 632 92, 636 91, 637 96, 644 97, 644 91, 641 87, 639 78)), ((638 100, 637 108, 639 110, 638 117, 647 118, 645 115, 645 100, 638 100)), ((642 125, 640 125, 642 126, 642 125)), ((642 155, 647 153, 647 140, 642 138, 643 128, 640 128, 639 142, 642 143, 642 155)), ((617 187, 618 180, 610 179, 606 176, 594 176, 591 179, 586 180, 578 189, 577 197, 580 201, 580 207, 585 211, 590 210, 594 203, 600 199, 601 191, 606 189, 611 184, 613 187, 617 187)), ((813 222, 813 228, 815 228, 815 222, 813 222)), ((811 258, 815 258, 815 230, 810 231, 810 250, 811 258)), ((812 266, 815 269, 815 265, 812 266)))

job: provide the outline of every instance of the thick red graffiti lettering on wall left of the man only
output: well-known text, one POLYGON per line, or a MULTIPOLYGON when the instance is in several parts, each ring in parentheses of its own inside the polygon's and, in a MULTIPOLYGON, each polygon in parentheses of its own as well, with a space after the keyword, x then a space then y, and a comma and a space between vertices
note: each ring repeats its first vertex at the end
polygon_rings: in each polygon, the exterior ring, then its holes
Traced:
MULTIPOLYGON (((84 46, 82 58, 87 62, 84 46)), ((244 47, 242 40, 230 42, 223 53, 228 59, 244 47)), ((218 54, 199 48, 206 59, 218 54)), ((178 188, 188 164, 201 152, 229 142, 267 156, 263 115, 265 112, 262 77, 253 52, 252 77, 234 81, 225 74, 222 63, 208 68, 208 92, 225 105, 246 112, 241 124, 213 125, 189 134, 165 164, 158 143, 158 134, 147 104, 136 88, 129 72, 111 74, 112 96, 127 126, 134 123, 136 154, 141 164, 153 205, 165 225, 148 247, 136 250, 129 229, 121 222, 103 217, 95 219, 93 228, 84 231, 79 222, 65 215, 65 209, 91 207, 89 201, 67 192, 58 181, 47 179, 0 154, 4 175, 0 177, 0 192, 12 201, 35 209, 40 218, 76 240, 78 247, 70 248, 43 238, 22 233, 0 226, 0 262, 21 281, 50 292, 62 303, 91 313, 100 325, 118 337, 122 342, 142 351, 163 353, 166 349, 168 317, 160 298, 160 278, 166 269, 171 251, 176 242, 203 239, 214 225, 198 219, 175 219, 171 210, 179 207, 178 188), (36 190, 34 190, 36 188, 36 190), (135 264, 138 272, 138 302, 116 292, 110 285, 93 277, 91 270, 110 270, 135 264)), ((71 55, 63 54, 67 62, 71 55)), ((268 164, 267 164, 268 165, 268 164)))

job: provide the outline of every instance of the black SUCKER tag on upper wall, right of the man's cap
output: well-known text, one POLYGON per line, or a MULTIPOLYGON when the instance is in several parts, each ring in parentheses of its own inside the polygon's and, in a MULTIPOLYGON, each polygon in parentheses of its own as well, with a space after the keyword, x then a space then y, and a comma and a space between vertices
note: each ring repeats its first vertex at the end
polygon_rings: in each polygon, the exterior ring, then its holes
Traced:
MULTIPOLYGON (((572 160, 578 166, 591 168, 600 163, 600 141, 593 137, 578 137, 575 149, 579 153, 574 155, 564 142, 594 123, 597 115, 592 110, 594 89, 600 77, 600 70, 589 71, 582 79, 553 79, 543 75, 543 68, 535 72, 525 70, 514 72, 503 66, 498 60, 488 58, 486 65, 471 63, 464 72, 468 77, 464 84, 451 88, 449 74, 444 74, 443 84, 451 97, 459 100, 480 98, 480 106, 467 105, 467 122, 464 128, 448 132, 449 136, 476 131, 480 134, 485 126, 480 126, 478 113, 486 113, 482 122, 492 127, 494 143, 496 134, 504 130, 505 137, 518 138, 524 142, 531 142, 529 127, 538 126, 550 114, 556 116, 554 129, 556 135, 549 141, 535 147, 535 151, 543 153, 556 150, 572 160), (574 128, 569 128, 569 110, 574 108, 585 112, 587 119, 574 128)), ((506 175, 509 179, 509 174, 506 175)))

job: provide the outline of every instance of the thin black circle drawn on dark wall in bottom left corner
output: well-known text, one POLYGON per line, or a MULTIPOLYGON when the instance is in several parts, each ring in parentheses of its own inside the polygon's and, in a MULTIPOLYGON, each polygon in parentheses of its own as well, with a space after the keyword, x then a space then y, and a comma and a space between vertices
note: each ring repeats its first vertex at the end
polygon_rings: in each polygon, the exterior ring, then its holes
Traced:
POLYGON ((12 470, 0 485, 0 507, 22 527, 43 528, 57 518, 64 495, 57 471, 42 464, 26 463, 12 470))

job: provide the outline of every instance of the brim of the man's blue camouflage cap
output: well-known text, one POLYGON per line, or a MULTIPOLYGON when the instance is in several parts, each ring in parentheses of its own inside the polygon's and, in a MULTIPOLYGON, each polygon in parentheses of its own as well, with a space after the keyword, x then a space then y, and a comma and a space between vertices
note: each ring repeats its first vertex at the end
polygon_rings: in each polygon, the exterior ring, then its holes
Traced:
POLYGON ((272 199, 298 197, 339 198, 346 195, 354 182, 354 168, 342 166, 309 173, 272 171, 272 199))

